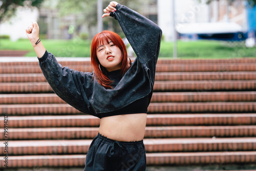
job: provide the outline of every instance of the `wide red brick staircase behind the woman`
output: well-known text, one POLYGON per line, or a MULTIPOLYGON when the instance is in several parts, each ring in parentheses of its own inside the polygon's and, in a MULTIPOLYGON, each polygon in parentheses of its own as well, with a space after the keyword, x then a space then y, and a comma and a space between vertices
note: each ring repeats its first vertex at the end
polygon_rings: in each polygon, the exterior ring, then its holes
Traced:
MULTIPOLYGON (((57 97, 37 59, 5 59, 0 61, 0 139, 8 141, 8 168, 81 170, 99 119, 57 97)), ((88 59, 58 61, 92 71, 88 59)), ((144 139, 148 169, 256 170, 255 90, 255 58, 159 60, 144 139)), ((2 170, 7 169, 5 148, 1 143, 2 170)))

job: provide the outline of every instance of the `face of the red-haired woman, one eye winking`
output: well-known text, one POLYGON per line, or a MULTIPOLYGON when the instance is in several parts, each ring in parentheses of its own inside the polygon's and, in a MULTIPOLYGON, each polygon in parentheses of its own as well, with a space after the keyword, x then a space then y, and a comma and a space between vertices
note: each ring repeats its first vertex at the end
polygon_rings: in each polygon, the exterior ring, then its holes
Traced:
POLYGON ((109 72, 121 69, 122 52, 110 39, 99 45, 96 55, 100 64, 109 72))

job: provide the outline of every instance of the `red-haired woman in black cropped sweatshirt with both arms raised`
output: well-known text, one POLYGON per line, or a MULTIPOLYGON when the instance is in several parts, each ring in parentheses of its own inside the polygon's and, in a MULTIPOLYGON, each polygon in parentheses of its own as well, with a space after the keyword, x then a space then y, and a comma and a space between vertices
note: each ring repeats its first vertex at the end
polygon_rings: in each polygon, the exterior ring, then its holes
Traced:
POLYGON ((26 33, 53 91, 77 110, 101 119, 84 170, 145 170, 143 137, 162 32, 156 24, 117 2, 103 11, 102 17, 118 20, 137 55, 134 62, 127 59, 120 36, 103 31, 92 41, 94 72, 62 68, 40 42, 36 23, 26 33))

